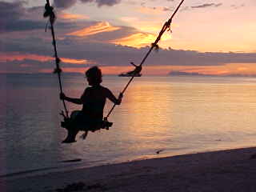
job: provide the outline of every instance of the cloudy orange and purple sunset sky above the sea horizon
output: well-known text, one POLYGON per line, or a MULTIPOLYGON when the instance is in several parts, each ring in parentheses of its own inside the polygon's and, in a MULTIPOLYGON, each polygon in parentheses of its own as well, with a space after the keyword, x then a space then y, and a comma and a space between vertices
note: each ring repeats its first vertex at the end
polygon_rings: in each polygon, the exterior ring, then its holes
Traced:
MULTIPOLYGON (((179 0, 52 0, 65 72, 133 70, 179 0)), ((51 73, 54 49, 42 0, 0 0, 0 73, 51 73)), ((256 1, 185 0, 142 74, 256 75, 256 1)))

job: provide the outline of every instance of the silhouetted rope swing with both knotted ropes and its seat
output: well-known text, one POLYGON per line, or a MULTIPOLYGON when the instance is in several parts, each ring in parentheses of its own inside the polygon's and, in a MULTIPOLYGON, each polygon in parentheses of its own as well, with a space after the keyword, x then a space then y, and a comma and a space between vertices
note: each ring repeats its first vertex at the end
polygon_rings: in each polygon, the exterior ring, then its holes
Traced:
MULTIPOLYGON (((182 2, 179 3, 178 7, 176 8, 176 10, 174 10, 174 13, 170 17, 170 19, 167 22, 165 22, 165 24, 162 26, 162 30, 159 32, 158 38, 156 38, 155 42, 151 44, 150 50, 146 53, 146 56, 142 59, 142 62, 140 63, 140 65, 137 66, 133 62, 131 62, 131 64, 135 67, 134 71, 136 73, 134 72, 134 73, 130 74, 131 78, 130 78, 129 82, 127 82, 127 84, 126 84, 125 88, 122 90, 121 94, 124 94, 124 92, 126 91, 128 86, 130 85, 130 82, 133 81, 134 77, 136 77, 136 76, 138 76, 138 74, 140 74, 140 72, 142 70, 142 64, 146 61, 146 58, 150 55, 151 51, 159 49, 158 42, 160 41, 162 34, 164 34, 166 30, 171 32, 170 24, 172 22, 172 19, 174 18, 174 15, 178 12, 178 9, 180 8, 180 6, 182 6, 183 2, 184 2, 184 0, 182 0, 182 2)), ((60 58, 58 58, 58 53, 57 53, 57 46, 56 46, 56 40, 55 40, 55 34, 54 34, 54 21, 56 20, 56 17, 55 17, 53 10, 54 10, 54 8, 52 6, 50 6, 49 0, 46 0, 45 13, 43 14, 43 16, 45 18, 49 17, 49 21, 50 21, 50 31, 51 31, 52 38, 53 38, 54 58, 55 58, 55 64, 56 64, 56 68, 54 69, 54 74, 58 74, 59 88, 60 88, 60 93, 62 94, 63 93, 62 81, 61 81, 62 70, 59 67, 59 63, 61 62, 61 60, 60 60, 60 58)), ((46 28, 47 28, 47 24, 46 24, 46 28)), ((67 138, 70 136, 70 134, 75 134, 74 132, 79 131, 79 130, 85 131, 85 134, 83 134, 83 138, 86 138, 88 131, 94 132, 96 130, 101 130, 101 129, 109 130, 109 128, 113 125, 113 122, 108 122, 107 118, 109 118, 109 116, 112 113, 112 111, 114 110, 114 107, 116 106, 116 104, 114 104, 114 106, 112 106, 112 108, 110 109, 110 112, 106 115, 105 118, 102 119, 101 122, 95 122, 95 123, 92 123, 92 125, 86 125, 86 126, 78 125, 78 128, 76 130, 74 130, 73 126, 74 126, 74 124, 76 124, 74 119, 76 119, 78 117, 78 115, 80 115, 81 111, 74 110, 69 116, 68 110, 66 109, 66 103, 65 103, 64 99, 62 99, 62 103, 64 106, 65 113, 63 110, 60 113, 64 118, 64 121, 61 122, 61 126, 67 130, 67 132, 68 132, 67 138)))

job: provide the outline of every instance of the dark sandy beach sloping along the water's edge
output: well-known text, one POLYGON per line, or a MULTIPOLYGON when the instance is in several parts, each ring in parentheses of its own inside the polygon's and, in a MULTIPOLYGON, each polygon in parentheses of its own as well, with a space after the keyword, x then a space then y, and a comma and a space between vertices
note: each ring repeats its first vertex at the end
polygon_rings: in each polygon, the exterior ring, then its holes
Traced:
POLYGON ((256 148, 1 179, 2 192, 256 191, 256 148))

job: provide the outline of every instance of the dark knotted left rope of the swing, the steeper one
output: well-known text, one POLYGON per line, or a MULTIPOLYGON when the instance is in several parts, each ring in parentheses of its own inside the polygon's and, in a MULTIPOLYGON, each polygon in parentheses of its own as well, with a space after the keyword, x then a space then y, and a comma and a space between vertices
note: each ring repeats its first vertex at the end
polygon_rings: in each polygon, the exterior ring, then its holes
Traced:
MULTIPOLYGON (((58 84, 59 84, 60 92, 62 94, 63 93, 62 79, 61 79, 62 69, 59 67, 59 63, 61 62, 61 59, 58 58, 57 46, 56 46, 56 40, 55 40, 55 34, 54 34, 54 22, 56 20, 56 16, 54 14, 54 7, 50 6, 49 0, 46 0, 45 10, 46 11, 43 14, 43 17, 44 18, 48 18, 49 17, 50 31, 51 31, 51 35, 52 35, 52 38, 53 38, 54 58, 55 58, 55 64, 56 64, 56 68, 54 69, 54 74, 58 74, 58 84)), ((47 29, 47 24, 46 24, 46 29, 47 29)), ((66 109, 66 102, 64 101, 64 99, 62 99, 62 103, 63 103, 63 106, 64 106, 65 114, 64 114, 64 112, 62 110, 61 115, 64 118, 68 118, 69 117, 69 113, 68 113, 68 110, 66 109)))

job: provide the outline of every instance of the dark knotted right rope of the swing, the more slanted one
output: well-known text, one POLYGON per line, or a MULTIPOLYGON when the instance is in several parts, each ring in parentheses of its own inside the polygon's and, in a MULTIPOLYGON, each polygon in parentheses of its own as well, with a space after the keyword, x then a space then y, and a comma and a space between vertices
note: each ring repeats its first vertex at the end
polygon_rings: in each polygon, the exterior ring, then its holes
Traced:
MULTIPOLYGON (((146 58, 148 58, 148 56, 150 55, 151 51, 159 49, 158 42, 160 41, 160 39, 162 37, 162 34, 164 34, 166 32, 166 30, 170 30, 170 23, 172 22, 172 19, 174 18, 174 15, 178 12, 180 6, 182 6, 182 3, 184 1, 185 0, 182 0, 182 2, 179 3, 178 7, 174 11, 174 13, 171 15, 170 19, 162 26, 162 30, 160 30, 160 32, 158 34, 158 38, 151 44, 150 50, 146 53, 146 56, 142 59, 142 62, 140 63, 139 66, 136 67, 135 70, 139 70, 139 72, 140 72, 142 70, 143 63, 146 61, 146 58)), ((125 88, 122 90, 122 92, 121 92, 122 94, 125 93, 126 89, 130 85, 130 82, 132 82, 134 80, 135 75, 136 75, 136 73, 134 73, 133 76, 130 78, 129 82, 126 84, 125 88)), ((110 109, 110 112, 104 118, 104 121, 107 121, 107 118, 109 118, 109 116, 112 113, 112 111, 114 110, 115 106, 116 106, 116 104, 114 104, 114 106, 112 106, 112 108, 110 109)))

